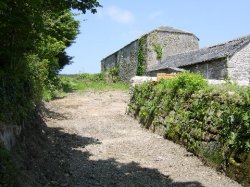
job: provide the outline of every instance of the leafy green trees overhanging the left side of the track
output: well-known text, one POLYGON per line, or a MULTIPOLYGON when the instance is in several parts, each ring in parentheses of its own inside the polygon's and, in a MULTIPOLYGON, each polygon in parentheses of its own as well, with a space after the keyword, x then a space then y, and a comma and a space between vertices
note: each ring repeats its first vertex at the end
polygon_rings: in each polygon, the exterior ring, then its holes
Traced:
POLYGON ((96 12, 96 0, 3 0, 0 3, 0 121, 24 124, 36 105, 57 95, 65 49, 79 33, 71 10, 96 12))

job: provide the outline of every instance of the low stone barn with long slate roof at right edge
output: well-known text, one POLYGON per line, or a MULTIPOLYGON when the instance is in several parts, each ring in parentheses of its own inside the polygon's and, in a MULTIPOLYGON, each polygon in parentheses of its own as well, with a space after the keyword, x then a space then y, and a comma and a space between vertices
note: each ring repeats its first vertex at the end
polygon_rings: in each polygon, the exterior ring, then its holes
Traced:
POLYGON ((147 74, 170 73, 173 68, 200 72, 206 79, 250 82, 250 35, 208 48, 169 56, 147 74))

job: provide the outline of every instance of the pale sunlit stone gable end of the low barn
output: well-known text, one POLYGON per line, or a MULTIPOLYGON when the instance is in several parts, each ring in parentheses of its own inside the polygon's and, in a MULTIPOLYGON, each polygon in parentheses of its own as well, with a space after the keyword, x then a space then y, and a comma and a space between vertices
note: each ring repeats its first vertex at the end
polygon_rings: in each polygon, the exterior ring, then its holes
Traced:
POLYGON ((250 44, 228 60, 228 76, 235 81, 250 81, 250 44))

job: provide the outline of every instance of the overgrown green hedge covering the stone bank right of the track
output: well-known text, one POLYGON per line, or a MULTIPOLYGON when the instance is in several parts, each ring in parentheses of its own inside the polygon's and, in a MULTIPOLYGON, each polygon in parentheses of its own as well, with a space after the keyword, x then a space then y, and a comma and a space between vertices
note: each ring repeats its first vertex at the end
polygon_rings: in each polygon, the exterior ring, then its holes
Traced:
POLYGON ((250 88, 210 86, 199 74, 136 86, 129 113, 250 185, 250 88))

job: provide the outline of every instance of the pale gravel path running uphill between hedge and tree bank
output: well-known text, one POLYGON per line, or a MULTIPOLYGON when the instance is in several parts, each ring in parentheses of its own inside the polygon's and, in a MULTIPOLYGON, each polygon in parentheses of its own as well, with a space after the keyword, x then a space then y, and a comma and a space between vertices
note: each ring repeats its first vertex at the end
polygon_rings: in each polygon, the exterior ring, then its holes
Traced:
POLYGON ((58 117, 48 118, 47 126, 60 132, 64 145, 58 148, 68 166, 66 182, 55 186, 240 186, 141 128, 125 115, 127 101, 127 93, 110 91, 70 94, 48 104, 58 117))

